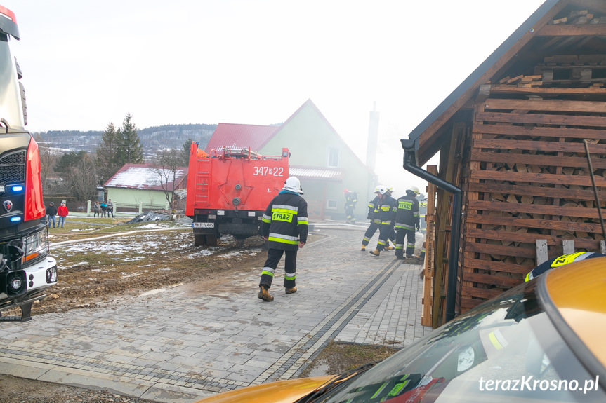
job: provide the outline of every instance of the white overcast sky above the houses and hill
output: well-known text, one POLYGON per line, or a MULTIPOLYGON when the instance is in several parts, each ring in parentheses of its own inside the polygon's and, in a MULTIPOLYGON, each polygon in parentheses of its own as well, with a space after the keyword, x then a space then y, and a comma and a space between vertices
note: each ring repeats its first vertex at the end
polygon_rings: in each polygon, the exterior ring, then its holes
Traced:
POLYGON ((308 99, 396 195, 400 139, 544 0, 0 0, 16 15, 32 132, 270 125, 308 99))

